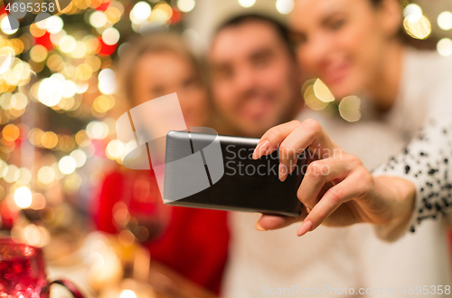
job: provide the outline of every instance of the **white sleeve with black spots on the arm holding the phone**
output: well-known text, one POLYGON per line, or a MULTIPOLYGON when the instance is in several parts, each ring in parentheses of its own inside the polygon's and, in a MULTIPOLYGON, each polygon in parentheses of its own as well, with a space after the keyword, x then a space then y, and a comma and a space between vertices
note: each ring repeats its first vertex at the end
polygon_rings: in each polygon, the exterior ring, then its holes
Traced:
POLYGON ((393 241, 426 219, 452 211, 452 120, 429 121, 410 144, 377 168, 374 176, 405 178, 416 186, 414 212, 409 225, 377 226, 377 235, 393 241))

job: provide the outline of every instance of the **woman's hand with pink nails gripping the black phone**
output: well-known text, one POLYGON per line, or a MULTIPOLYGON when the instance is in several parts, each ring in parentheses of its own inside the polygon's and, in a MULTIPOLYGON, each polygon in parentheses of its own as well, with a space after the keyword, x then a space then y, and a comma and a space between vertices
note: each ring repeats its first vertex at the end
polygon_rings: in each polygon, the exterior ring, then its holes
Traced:
POLYGON ((409 221, 414 185, 401 178, 373 178, 361 160, 345 154, 315 120, 294 120, 268 130, 259 140, 253 159, 278 148, 281 181, 297 166, 298 155, 309 148, 309 165, 297 191, 306 208, 299 217, 263 215, 256 223, 258 230, 277 229, 303 220, 297 232, 303 236, 321 224, 385 225, 409 221))

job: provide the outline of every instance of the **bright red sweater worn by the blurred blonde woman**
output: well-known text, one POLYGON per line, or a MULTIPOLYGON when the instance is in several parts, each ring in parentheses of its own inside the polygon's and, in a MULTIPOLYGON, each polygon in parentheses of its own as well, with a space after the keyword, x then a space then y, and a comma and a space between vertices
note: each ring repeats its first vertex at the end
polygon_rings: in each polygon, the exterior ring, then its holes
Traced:
POLYGON ((149 218, 168 213, 170 217, 162 234, 144 244, 151 260, 219 293, 228 254, 226 212, 163 205, 153 171, 117 170, 108 174, 99 192, 95 221, 100 231, 118 232, 113 208, 120 200, 126 203, 132 216, 149 218))

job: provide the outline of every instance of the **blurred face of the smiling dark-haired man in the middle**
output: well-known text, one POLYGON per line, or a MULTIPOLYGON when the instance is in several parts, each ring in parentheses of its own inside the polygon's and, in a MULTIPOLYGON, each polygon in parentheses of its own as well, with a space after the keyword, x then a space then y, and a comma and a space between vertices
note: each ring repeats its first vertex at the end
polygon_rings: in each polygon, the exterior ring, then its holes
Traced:
POLYGON ((209 62, 214 105, 234 134, 259 138, 301 107, 297 63, 271 24, 249 21, 221 30, 209 62))

